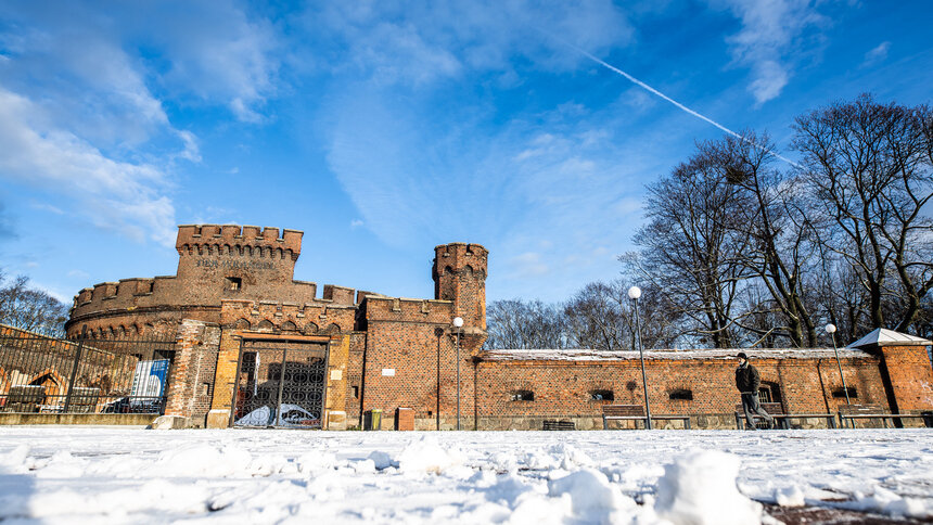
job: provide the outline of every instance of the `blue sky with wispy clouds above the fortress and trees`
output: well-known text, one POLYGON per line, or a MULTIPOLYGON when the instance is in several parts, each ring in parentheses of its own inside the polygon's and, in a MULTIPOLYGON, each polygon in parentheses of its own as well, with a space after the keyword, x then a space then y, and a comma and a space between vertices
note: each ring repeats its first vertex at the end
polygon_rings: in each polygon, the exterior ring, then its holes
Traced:
POLYGON ((928 103, 929 1, 177 1, 0 5, 0 267, 60 298, 172 274, 175 227, 305 231, 296 278, 487 295, 612 279, 644 184, 723 132, 928 103))

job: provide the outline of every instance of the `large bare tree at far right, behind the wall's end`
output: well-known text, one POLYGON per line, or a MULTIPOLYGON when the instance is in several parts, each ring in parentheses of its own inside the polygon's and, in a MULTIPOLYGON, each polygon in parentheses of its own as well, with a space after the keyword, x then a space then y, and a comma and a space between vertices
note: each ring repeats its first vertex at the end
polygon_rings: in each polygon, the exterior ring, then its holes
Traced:
POLYGON ((857 276, 867 297, 853 334, 907 331, 933 287, 933 115, 928 106, 880 104, 870 95, 798 117, 802 176, 833 228, 821 239, 857 276))

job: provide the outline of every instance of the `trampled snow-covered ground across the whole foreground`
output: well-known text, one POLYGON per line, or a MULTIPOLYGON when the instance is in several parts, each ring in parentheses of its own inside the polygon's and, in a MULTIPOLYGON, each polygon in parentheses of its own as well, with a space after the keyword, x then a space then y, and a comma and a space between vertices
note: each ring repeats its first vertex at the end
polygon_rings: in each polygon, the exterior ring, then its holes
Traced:
POLYGON ((0 427, 5 523, 774 523, 753 500, 929 518, 933 431, 0 427))

